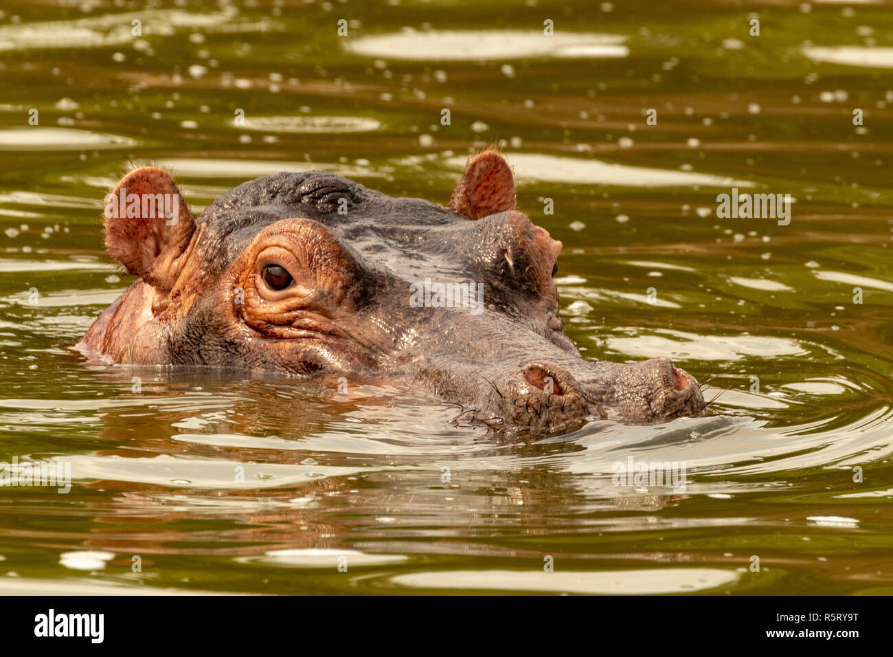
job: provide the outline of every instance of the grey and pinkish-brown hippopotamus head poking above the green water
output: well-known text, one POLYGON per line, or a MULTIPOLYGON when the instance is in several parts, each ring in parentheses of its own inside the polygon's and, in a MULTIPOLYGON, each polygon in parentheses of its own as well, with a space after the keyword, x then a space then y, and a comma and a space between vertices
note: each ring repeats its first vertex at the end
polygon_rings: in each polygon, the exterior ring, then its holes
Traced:
POLYGON ((440 206, 333 173, 276 173, 194 216, 144 166, 106 197, 105 245, 137 277, 76 346, 90 361, 386 382, 499 431, 705 413, 669 358, 582 358, 554 276, 562 243, 517 209, 488 148, 440 206))

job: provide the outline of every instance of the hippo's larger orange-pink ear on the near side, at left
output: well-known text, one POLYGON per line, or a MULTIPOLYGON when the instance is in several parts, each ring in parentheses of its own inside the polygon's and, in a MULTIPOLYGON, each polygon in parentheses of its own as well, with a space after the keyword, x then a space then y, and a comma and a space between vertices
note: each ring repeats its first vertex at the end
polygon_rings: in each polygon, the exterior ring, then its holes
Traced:
POLYGON ((171 174, 154 166, 128 173, 105 197, 105 246, 130 274, 169 291, 179 276, 195 217, 171 174))

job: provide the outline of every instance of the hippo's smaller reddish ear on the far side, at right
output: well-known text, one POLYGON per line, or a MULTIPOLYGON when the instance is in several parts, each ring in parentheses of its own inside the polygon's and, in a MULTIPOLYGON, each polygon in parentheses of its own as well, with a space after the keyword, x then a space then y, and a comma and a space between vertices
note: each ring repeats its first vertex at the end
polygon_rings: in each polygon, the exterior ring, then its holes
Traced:
POLYGON ((514 176, 505 157, 488 149, 469 158, 447 207, 469 219, 515 209, 514 176))

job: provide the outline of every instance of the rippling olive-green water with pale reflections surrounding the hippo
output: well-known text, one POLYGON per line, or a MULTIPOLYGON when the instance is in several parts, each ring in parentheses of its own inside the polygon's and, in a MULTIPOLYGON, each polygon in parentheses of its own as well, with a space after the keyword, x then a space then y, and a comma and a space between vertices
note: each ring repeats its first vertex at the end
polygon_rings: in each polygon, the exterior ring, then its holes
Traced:
POLYGON ((888 8, 278 4, 4 0, 0 459, 72 483, 0 490, 0 592, 893 593, 888 8), (445 203, 500 139, 573 340, 713 377, 716 416, 512 441, 71 351, 131 281, 100 223, 131 161, 194 211, 313 168, 445 203), (789 225, 718 218, 732 187, 789 225), (614 485, 652 461, 675 490, 614 485))

